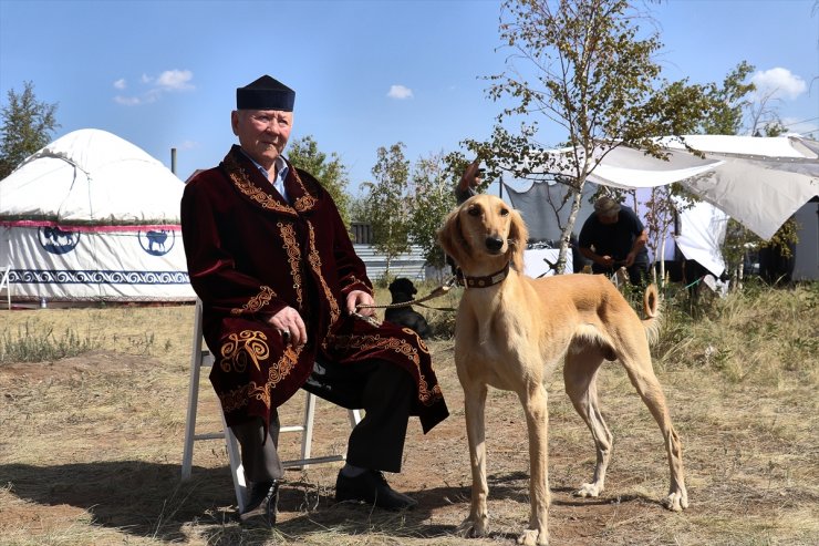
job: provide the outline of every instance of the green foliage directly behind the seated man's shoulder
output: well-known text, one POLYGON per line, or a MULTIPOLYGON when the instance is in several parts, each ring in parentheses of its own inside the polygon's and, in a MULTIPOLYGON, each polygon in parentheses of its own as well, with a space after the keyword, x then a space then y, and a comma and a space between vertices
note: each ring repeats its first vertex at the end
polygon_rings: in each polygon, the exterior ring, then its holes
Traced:
POLYGON ((321 182, 321 185, 335 202, 335 206, 339 207, 344 225, 350 229, 351 198, 346 193, 350 177, 346 166, 341 162, 339 155, 333 152, 328 159, 328 155, 319 151, 315 140, 308 135, 288 145, 287 157, 290 163, 303 168, 321 182))

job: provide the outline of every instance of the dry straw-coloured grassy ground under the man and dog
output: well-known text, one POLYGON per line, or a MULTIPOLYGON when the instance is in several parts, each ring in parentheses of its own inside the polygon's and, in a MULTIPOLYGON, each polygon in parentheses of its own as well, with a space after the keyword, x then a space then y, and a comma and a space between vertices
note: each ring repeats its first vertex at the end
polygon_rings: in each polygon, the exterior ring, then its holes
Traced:
MULTIPOLYGON (((193 316, 157 311, 174 333, 139 354, 100 350, 46 363, 0 364, 0 544, 514 544, 528 521, 526 424, 517 398, 490 391, 487 409, 491 535, 465 539, 470 474, 463 395, 452 340, 431 343, 450 418, 428 434, 409 426, 405 462, 391 484, 419 502, 407 513, 335 504, 341 463, 289 471, 276 529, 235 522, 224 442, 196 443, 193 475, 180 481, 193 316), (158 350, 164 347, 165 352, 158 350)), ((138 317, 133 318, 138 322, 138 317)), ((127 321, 128 318, 117 320, 127 321)), ((131 328, 138 330, 138 323, 131 328)), ((138 344, 138 343, 136 343, 138 344)), ((691 507, 661 506, 668 470, 663 439, 618 364, 601 373, 614 434, 600 498, 571 492, 591 477, 591 437, 559 374, 550 395, 549 525, 552 545, 819 544, 817 396, 797 378, 777 389, 728 383, 684 367, 659 370, 684 445, 691 507)), ((301 419, 303 398, 282 411, 301 419)), ((218 431, 216 396, 201 381, 198 432, 218 431)), ((320 402, 313 454, 343 453, 346 411, 320 402)), ((299 455, 284 434, 284 459, 299 455)))

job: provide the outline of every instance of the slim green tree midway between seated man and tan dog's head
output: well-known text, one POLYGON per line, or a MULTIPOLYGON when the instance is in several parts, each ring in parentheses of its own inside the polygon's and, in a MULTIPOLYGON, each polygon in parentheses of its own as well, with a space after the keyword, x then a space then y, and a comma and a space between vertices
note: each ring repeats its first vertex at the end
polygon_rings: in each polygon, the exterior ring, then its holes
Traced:
POLYGON ((386 257, 384 277, 390 278, 390 265, 409 250, 409 162, 404 157, 404 144, 380 147, 372 168, 374 182, 362 184, 366 196, 366 214, 373 227, 373 246, 386 257))

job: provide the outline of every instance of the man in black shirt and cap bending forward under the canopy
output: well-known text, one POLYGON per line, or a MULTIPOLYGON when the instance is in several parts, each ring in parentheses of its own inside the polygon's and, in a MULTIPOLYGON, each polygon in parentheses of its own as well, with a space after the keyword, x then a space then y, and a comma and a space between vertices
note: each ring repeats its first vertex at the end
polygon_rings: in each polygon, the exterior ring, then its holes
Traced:
POLYGON ((583 223, 578 247, 592 261, 592 272, 611 275, 625 267, 631 284, 641 285, 649 271, 647 240, 634 210, 604 196, 594 202, 594 214, 583 223))

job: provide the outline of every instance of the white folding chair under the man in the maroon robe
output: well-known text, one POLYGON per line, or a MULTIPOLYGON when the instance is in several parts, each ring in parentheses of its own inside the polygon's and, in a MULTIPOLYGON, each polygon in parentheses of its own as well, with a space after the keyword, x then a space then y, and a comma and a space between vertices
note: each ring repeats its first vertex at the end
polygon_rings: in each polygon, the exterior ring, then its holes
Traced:
MULTIPOLYGON (((225 414, 219 410, 221 416, 221 432, 196 433, 196 410, 199 399, 199 378, 203 367, 214 365, 214 356, 207 348, 203 347, 201 337, 201 301, 197 298, 196 309, 194 311, 194 340, 190 354, 190 384, 188 385, 188 411, 185 424, 185 447, 182 455, 182 478, 188 480, 194 460, 194 442, 197 440, 218 440, 225 439, 225 445, 230 462, 230 474, 234 478, 234 490, 236 492, 236 503, 239 512, 245 511, 247 501, 247 481, 245 480, 245 468, 241 464, 239 454, 239 442, 236 440, 230 427, 225 422, 225 414)), ((344 455, 311 456, 313 440, 313 415, 315 412, 315 394, 307 392, 304 403, 304 420, 302 424, 281 426, 280 433, 301 432, 301 459, 294 461, 283 461, 286 468, 307 468, 311 464, 332 463, 343 461, 344 455)), ((359 410, 349 410, 350 426, 354 427, 361 421, 359 410)))

